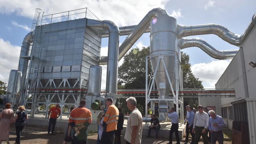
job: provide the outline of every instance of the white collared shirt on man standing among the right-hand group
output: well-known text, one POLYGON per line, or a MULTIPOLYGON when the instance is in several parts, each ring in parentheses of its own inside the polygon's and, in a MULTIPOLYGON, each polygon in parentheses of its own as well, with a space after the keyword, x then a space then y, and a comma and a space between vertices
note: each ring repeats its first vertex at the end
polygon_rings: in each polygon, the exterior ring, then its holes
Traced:
POLYGON ((198 127, 204 127, 204 128, 207 129, 208 128, 208 122, 209 122, 209 115, 208 115, 208 113, 206 113, 204 111, 203 111, 203 113, 197 112, 195 114, 193 128, 198 126, 198 127))

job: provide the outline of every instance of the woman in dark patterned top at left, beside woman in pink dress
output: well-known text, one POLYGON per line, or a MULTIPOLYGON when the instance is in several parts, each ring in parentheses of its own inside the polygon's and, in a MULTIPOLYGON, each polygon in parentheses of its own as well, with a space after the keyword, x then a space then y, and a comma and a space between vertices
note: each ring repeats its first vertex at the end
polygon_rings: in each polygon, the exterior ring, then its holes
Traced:
POLYGON ((15 144, 20 144, 20 134, 23 129, 23 127, 26 125, 26 120, 28 119, 28 114, 25 112, 24 105, 19 106, 19 112, 16 114, 16 117, 14 118, 13 122, 15 123, 16 127, 16 142, 15 144))

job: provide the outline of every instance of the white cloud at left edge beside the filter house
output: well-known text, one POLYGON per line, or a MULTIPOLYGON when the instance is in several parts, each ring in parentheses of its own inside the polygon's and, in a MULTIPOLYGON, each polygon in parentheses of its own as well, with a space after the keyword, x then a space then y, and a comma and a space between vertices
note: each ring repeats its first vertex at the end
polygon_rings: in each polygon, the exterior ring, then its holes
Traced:
POLYGON ((0 80, 8 83, 10 71, 18 68, 20 46, 0 38, 0 51, 0 80))

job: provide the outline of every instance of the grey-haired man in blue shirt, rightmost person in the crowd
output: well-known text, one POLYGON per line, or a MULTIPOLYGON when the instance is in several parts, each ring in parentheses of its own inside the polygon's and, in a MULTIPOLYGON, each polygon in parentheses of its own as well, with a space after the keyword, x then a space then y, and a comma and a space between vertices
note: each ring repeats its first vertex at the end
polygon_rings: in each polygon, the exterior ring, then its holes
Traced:
POLYGON ((211 144, 216 144, 216 141, 219 144, 223 144, 224 136, 222 129, 226 126, 225 121, 223 118, 217 114, 213 110, 209 111, 210 118, 209 118, 209 130, 211 132, 211 144))

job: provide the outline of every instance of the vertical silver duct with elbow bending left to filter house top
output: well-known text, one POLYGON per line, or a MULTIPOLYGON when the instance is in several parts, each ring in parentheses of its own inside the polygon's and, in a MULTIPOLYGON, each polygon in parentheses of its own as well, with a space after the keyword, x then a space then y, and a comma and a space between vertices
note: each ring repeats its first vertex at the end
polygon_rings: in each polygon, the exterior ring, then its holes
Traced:
POLYGON ((87 20, 87 26, 102 28, 109 32, 106 93, 117 94, 119 28, 109 20, 87 20))

